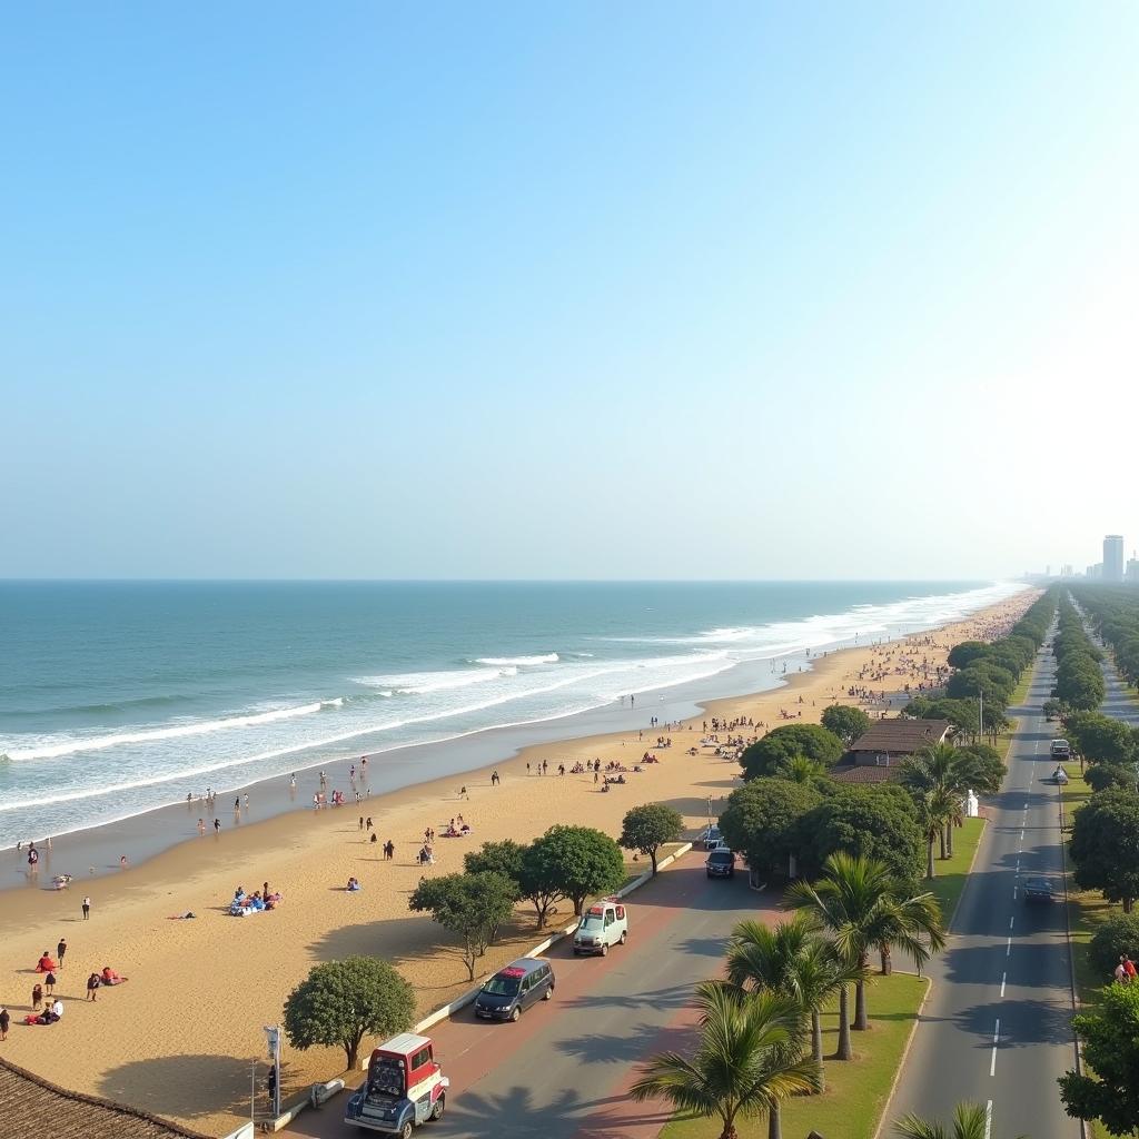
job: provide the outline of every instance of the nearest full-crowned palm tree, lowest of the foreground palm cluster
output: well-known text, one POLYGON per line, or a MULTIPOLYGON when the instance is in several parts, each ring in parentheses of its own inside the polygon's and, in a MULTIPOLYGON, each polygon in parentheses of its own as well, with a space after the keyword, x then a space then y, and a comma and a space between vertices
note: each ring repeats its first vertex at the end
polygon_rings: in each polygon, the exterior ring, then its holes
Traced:
POLYGON ((794 1048, 803 1021, 795 1001, 702 981, 696 1003, 700 1039, 691 1059, 654 1056, 630 1088, 633 1099, 663 1096, 681 1111, 719 1116, 720 1139, 737 1139, 738 1117, 770 1114, 781 1100, 816 1089, 814 1062, 794 1048))

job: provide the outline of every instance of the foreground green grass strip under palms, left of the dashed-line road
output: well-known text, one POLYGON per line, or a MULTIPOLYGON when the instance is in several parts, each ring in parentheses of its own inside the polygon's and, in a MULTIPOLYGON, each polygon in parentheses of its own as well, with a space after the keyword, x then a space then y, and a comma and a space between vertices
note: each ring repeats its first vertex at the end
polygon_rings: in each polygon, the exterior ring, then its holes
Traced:
MULTIPOLYGON (((825 1139, 872 1139, 928 984, 911 973, 875 980, 867 992, 870 1029, 851 1033, 855 1058, 826 1062, 827 1090, 822 1095, 798 1096, 784 1103, 785 1136, 802 1139, 818 1131, 825 1139)), ((853 1008, 852 994, 852 1013, 853 1008)), ((838 1041, 837 1013, 827 1013, 822 1026, 822 1054, 830 1056, 838 1041)), ((737 1126, 740 1139, 767 1139, 767 1117, 740 1120, 737 1126)), ((716 1120, 686 1118, 678 1113, 661 1132, 661 1139, 716 1139, 719 1134, 716 1120)))

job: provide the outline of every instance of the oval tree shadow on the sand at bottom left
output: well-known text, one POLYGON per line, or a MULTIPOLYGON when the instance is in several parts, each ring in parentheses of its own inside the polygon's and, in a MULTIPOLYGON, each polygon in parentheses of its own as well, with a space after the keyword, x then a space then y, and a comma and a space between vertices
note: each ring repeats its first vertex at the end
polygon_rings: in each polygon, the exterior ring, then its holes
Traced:
MULTIPOLYGON (((259 1068, 257 1092, 264 1107, 264 1076, 259 1068)), ((285 1080, 288 1068, 285 1067, 285 1080)), ((192 1120, 219 1112, 247 1115, 249 1060, 237 1056, 157 1056, 110 1068, 99 1082, 99 1095, 155 1115, 192 1120)))

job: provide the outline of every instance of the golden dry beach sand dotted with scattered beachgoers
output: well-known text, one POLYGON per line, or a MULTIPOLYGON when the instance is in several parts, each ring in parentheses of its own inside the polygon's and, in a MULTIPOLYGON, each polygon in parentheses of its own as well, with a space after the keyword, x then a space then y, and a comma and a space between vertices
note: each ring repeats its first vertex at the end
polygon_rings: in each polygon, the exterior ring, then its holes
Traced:
MULTIPOLYGON (((788 674, 785 687, 711 702, 705 714, 671 732, 671 748, 653 746, 657 735, 670 732, 647 728, 644 739, 625 731, 541 745, 466 776, 371 797, 360 808, 349 803, 245 823, 221 835, 211 831, 137 869, 90 883, 77 879, 68 890, 7 892, 0 916, 0 998, 13 1015, 13 1029, 0 1055, 76 1091, 146 1108, 206 1134, 226 1134, 248 1118, 252 1058, 261 1060, 264 1075, 262 1025, 279 1022, 286 995, 312 965, 352 953, 383 957, 416 986, 423 1014, 469 988, 448 936, 407 908, 424 872, 415 855, 428 826, 442 831, 461 813, 474 828, 466 839, 435 843, 432 874, 461 870, 464 852, 482 842, 528 841, 555 822, 595 826, 616 836, 624 812, 646 802, 674 806, 695 834, 705 822, 708 798, 714 819, 722 800, 739 786, 735 762, 714 756, 711 748, 686 754, 700 739, 705 719, 751 718, 773 728, 785 722, 780 710, 796 719, 802 713, 809 722, 836 697, 859 703, 846 695, 852 685, 898 693, 917 679, 903 657, 936 666, 958 641, 1006 631, 1036 596, 1024 591, 966 621, 902 641, 835 652, 816 658, 808 672, 788 674), (860 673, 882 679, 861 679, 860 673), (662 762, 626 776, 629 786, 608 794, 593 785, 592 775, 556 775, 558 763, 568 769, 595 757, 603 765, 620 760, 631 768, 646 749, 662 762), (549 773, 527 777, 526 764, 536 768, 543 760, 549 773), (493 767, 502 780, 498 787, 490 782, 493 767), (459 797, 464 784, 469 801, 459 797), (375 822, 375 844, 358 827, 361 813, 375 822), (387 838, 395 844, 391 862, 383 860, 387 838), (360 878, 360 893, 345 892, 350 875, 360 878), (248 918, 227 915, 238 885, 252 892, 267 880, 285 896, 279 909, 248 918), (87 921, 84 893, 92 898, 87 921), (174 919, 187 911, 196 919, 174 919), (33 967, 44 949, 55 956, 60 936, 68 942, 57 988, 66 1015, 51 1029, 17 1024, 30 1008, 32 985, 42 980, 33 967), (100 990, 93 1005, 84 1002, 88 974, 104 965, 130 982, 100 990)), ((895 712, 900 703, 894 699, 895 712)), ((650 713, 646 706, 646 719, 650 713)), ((312 789, 306 789, 310 798, 312 789)), ((200 813, 198 804, 191 810, 200 813)), ((219 814, 227 818, 222 810, 219 814)), ((630 865, 630 872, 646 865, 630 865)), ((555 924, 568 913, 562 903, 555 924)), ((519 910, 503 941, 487 951, 480 974, 538 940, 532 917, 519 910)), ((336 1049, 298 1052, 286 1046, 284 1055, 286 1100, 316 1080, 341 1074, 344 1066, 344 1054, 336 1049)))

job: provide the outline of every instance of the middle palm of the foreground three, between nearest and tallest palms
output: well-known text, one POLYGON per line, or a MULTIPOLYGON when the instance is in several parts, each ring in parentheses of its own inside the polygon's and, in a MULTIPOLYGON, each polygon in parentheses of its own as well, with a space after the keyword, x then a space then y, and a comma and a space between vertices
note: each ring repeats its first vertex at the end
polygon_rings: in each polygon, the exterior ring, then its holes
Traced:
MULTIPOLYGON (((858 968, 835 952, 829 941, 819 936, 806 913, 796 913, 773 929, 760 921, 740 921, 728 942, 728 980, 732 984, 752 991, 767 989, 782 993, 810 1014, 811 1058, 819 1065, 819 1091, 826 1088, 822 1008, 861 976, 858 968)), ((849 1041, 849 1026, 846 1036, 849 1041)))

